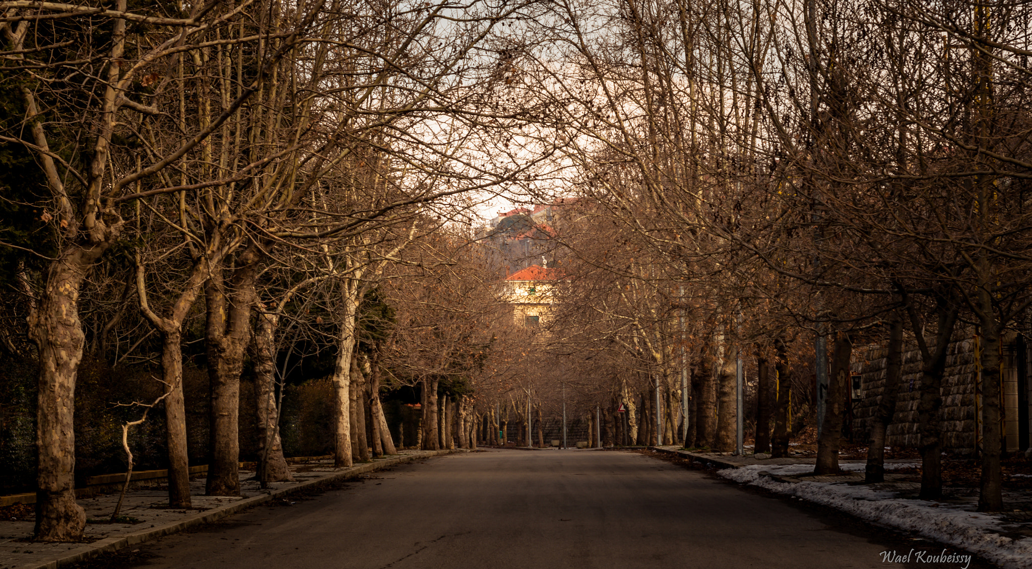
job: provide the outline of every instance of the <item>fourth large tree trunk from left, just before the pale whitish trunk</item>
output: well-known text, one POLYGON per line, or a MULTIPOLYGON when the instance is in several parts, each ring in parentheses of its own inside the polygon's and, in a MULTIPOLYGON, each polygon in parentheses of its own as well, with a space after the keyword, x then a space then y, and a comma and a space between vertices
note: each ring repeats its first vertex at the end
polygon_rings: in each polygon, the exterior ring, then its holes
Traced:
POLYGON ((283 457, 276 404, 276 329, 280 316, 258 314, 254 335, 255 403, 258 409, 258 479, 262 483, 293 480, 283 457))

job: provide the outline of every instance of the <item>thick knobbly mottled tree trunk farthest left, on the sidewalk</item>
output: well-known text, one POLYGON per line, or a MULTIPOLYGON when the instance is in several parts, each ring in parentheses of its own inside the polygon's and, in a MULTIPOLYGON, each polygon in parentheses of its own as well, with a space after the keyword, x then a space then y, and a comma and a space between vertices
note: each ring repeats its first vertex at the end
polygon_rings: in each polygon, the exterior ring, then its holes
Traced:
POLYGON ((36 407, 36 527, 39 541, 78 541, 86 511, 75 503, 75 378, 85 334, 78 294, 105 247, 75 248, 51 264, 46 288, 29 317, 39 350, 36 407))

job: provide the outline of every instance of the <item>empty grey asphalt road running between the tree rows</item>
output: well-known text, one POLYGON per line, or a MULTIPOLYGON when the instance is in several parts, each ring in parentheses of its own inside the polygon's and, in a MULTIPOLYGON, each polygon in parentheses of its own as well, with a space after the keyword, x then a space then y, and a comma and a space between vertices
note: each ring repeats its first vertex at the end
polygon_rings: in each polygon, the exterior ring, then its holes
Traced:
POLYGON ((640 454, 488 450, 381 471, 89 566, 963 567, 882 562, 915 547, 942 549, 640 454))

